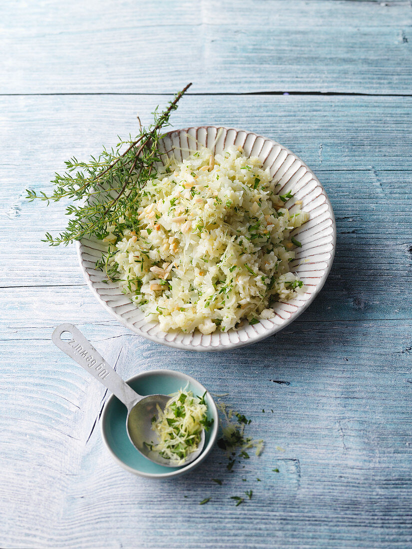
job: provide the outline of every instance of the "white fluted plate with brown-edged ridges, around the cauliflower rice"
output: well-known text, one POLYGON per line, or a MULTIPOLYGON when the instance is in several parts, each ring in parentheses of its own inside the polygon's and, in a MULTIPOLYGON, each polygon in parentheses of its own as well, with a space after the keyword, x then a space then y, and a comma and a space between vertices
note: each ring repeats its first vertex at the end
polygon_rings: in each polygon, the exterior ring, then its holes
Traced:
MULTIPOLYGON (((101 251, 106 249, 102 241, 83 239, 77 242, 77 254, 86 282, 96 298, 119 322, 142 337, 179 349, 193 351, 222 351, 249 345, 287 326, 314 300, 325 283, 332 266, 336 248, 335 216, 326 193, 318 178, 296 155, 279 143, 252 132, 218 126, 199 126, 169 132, 163 139, 163 150, 175 154, 181 160, 187 158, 188 149, 199 145, 213 148, 220 153, 229 145, 241 145, 248 156, 258 156, 263 167, 270 167, 275 182, 279 182, 283 194, 292 191, 294 200, 302 200, 302 208, 310 213, 310 219, 292 233, 302 243, 297 249, 291 270, 296 272, 307 287, 307 292, 286 303, 274 305, 275 317, 261 320, 250 326, 245 323, 239 329, 204 335, 182 332, 164 333, 159 324, 146 322, 143 313, 132 304, 116 284, 104 282, 102 272, 94 270, 101 251), (173 152, 170 152, 174 149, 173 152)), ((286 203, 291 208, 293 200, 286 203)))

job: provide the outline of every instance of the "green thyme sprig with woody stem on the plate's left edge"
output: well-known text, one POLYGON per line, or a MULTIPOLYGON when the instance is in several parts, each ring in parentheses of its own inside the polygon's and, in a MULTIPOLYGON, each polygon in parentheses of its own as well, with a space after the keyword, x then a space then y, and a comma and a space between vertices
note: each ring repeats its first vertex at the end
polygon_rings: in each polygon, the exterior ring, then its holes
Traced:
POLYGON ((138 208, 143 187, 156 176, 155 163, 161 161, 159 141, 164 133, 160 130, 170 126, 169 117, 190 86, 191 83, 177 93, 162 113, 157 107, 152 113, 154 123, 148 128, 142 127, 139 119, 140 132, 136 137, 129 136, 126 141, 119 137, 114 148, 103 148, 101 154, 91 156, 87 162, 75 157, 66 161, 63 175, 55 173, 51 195, 26 189, 29 201, 40 199, 47 205, 63 199, 80 202, 66 206, 66 214, 71 217, 65 231, 57 237, 46 233, 43 242, 68 245, 84 237, 103 239, 109 234, 108 226, 118 236, 127 228, 135 228, 138 221, 132 212, 138 208))

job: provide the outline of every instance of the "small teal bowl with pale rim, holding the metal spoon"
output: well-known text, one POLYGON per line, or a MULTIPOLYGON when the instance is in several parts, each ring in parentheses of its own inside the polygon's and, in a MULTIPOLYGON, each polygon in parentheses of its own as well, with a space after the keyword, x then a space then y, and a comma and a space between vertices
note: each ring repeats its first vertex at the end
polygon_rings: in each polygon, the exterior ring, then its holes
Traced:
POLYGON ((128 379, 127 383, 142 396, 169 395, 186 387, 194 395, 202 396, 206 391, 208 419, 213 419, 213 426, 205 432, 203 452, 196 460, 182 467, 164 467, 142 456, 132 445, 126 431, 126 406, 112 395, 103 408, 101 431, 103 442, 114 461, 130 473, 153 479, 179 477, 197 467, 209 455, 218 436, 218 408, 207 389, 196 379, 173 370, 142 372, 128 379))

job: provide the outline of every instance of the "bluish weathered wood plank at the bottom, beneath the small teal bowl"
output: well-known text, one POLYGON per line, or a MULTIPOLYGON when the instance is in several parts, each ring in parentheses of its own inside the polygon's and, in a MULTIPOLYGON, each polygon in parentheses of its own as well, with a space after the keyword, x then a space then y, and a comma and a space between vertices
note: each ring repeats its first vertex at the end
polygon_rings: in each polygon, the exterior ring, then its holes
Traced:
POLYGON ((289 327, 259 345, 212 354, 207 367, 187 351, 119 337, 120 330, 96 323, 80 327, 125 377, 158 367, 161 357, 162 366, 179 363, 215 393, 229 392, 225 400, 252 419, 249 432, 262 436, 266 449, 234 473, 216 448, 188 477, 161 484, 133 478, 110 460, 93 430, 104 390, 52 346, 51 328, 43 328, 29 346, 15 339, 3 354, 3 547, 412 542, 410 321, 401 337, 394 322, 308 323, 299 335, 289 327), (19 368, 12 369, 16 355, 19 368), (23 405, 28 386, 30 409, 23 405), (230 496, 249 489, 252 500, 235 507, 230 496), (199 506, 206 496, 208 505, 199 506))

